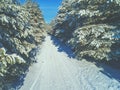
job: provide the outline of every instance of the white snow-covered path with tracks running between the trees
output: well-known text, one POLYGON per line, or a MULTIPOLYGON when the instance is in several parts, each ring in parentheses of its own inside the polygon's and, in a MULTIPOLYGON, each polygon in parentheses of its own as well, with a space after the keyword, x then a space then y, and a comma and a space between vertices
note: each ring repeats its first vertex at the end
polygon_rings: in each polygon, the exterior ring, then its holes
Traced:
POLYGON ((112 78, 94 63, 68 57, 50 36, 46 37, 37 59, 20 90, 120 90, 119 71, 106 66, 116 75, 112 78))

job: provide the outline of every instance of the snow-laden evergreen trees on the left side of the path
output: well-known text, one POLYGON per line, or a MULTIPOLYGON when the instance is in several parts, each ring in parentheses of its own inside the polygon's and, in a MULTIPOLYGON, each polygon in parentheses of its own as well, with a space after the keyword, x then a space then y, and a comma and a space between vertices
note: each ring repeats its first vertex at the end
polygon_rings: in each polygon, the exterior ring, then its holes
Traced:
POLYGON ((27 8, 18 2, 0 0, 0 90, 9 90, 15 79, 25 73, 35 48, 44 39, 44 20, 39 6, 27 8))

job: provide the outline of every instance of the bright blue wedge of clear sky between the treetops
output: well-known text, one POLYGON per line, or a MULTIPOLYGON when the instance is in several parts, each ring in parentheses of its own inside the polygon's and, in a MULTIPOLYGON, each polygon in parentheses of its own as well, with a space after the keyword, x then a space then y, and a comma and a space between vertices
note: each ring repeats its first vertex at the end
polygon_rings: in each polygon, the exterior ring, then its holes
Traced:
MULTIPOLYGON (((21 0, 23 2, 25 0, 21 0)), ((57 15, 58 8, 62 0, 33 0, 38 2, 40 9, 42 10, 46 23, 50 23, 52 19, 57 15)))

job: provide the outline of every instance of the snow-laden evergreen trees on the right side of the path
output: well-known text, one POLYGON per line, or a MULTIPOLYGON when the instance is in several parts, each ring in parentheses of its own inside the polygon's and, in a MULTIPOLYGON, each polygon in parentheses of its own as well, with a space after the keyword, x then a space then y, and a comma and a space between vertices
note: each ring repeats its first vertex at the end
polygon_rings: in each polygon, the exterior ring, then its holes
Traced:
POLYGON ((55 35, 72 45, 78 59, 119 61, 119 17, 119 0, 67 0, 55 19, 55 35))

